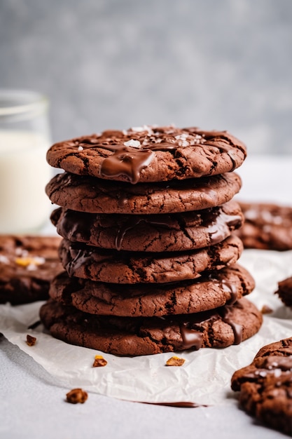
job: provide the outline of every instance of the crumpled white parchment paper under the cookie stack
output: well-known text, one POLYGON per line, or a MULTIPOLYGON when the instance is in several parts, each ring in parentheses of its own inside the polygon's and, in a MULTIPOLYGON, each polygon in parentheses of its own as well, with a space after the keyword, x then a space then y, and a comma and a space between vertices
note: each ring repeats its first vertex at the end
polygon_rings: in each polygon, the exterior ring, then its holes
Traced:
POLYGON ((230 390, 233 372, 251 363, 260 347, 292 336, 292 309, 274 295, 278 281, 292 276, 292 251, 244 250, 239 262, 256 280, 256 289, 249 299, 259 309, 266 305, 273 312, 263 316, 258 334, 242 344, 177 353, 186 360, 180 367, 165 366, 172 353, 120 358, 61 342, 44 333, 42 325, 28 330, 39 320, 43 302, 1 305, 0 331, 69 389, 82 387, 113 398, 146 403, 228 403, 228 398, 232 400, 230 396, 234 396, 230 390), (27 334, 36 337, 34 346, 27 346, 27 334), (106 358, 105 367, 92 367, 97 354, 106 358))

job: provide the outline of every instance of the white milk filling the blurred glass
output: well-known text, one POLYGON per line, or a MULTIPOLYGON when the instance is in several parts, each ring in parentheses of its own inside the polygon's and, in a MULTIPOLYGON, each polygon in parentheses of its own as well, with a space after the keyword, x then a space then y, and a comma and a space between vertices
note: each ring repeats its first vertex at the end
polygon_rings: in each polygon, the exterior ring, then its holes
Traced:
POLYGON ((0 130, 0 234, 33 233, 48 221, 49 146, 32 131, 0 130))

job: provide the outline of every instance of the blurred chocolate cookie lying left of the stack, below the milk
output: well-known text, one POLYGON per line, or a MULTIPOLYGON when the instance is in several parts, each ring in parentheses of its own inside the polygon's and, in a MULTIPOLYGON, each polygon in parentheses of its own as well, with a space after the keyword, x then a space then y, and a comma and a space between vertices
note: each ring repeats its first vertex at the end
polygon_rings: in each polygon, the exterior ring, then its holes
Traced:
POLYGON ((0 235, 0 303, 48 298, 51 279, 62 270, 58 236, 0 235))

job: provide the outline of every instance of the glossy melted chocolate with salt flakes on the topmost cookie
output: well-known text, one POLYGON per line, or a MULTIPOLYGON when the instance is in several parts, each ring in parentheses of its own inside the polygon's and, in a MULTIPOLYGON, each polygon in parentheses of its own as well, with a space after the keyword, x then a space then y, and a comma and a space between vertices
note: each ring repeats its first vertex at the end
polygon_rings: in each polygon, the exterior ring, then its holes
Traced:
POLYGON ((93 138, 84 137, 79 144, 82 148, 88 148, 88 145, 113 152, 111 156, 104 158, 99 175, 108 179, 123 175, 133 184, 139 181, 141 169, 146 168, 153 160, 153 151, 175 151, 181 147, 209 145, 228 154, 233 169, 237 167, 232 152, 232 141, 224 131, 145 126, 127 131, 107 130, 93 138), (127 142, 130 140, 136 140, 138 147, 128 146, 127 142))

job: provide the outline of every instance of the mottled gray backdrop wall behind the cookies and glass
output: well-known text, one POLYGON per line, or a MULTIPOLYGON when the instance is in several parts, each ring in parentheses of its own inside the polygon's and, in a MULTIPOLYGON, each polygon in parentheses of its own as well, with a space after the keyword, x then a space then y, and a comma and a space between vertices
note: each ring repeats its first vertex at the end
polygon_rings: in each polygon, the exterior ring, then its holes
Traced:
POLYGON ((291 0, 0 0, 0 87, 50 97, 53 140, 145 123, 292 152, 291 0))

